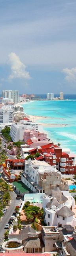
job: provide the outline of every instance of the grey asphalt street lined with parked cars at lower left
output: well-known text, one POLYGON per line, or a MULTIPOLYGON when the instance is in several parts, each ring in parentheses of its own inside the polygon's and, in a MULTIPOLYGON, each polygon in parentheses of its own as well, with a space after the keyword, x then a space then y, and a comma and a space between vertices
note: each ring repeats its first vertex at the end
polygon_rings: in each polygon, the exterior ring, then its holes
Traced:
POLYGON ((9 219, 11 218, 11 215, 14 212, 15 206, 19 206, 22 200, 15 200, 16 198, 15 192, 11 192, 11 203, 10 206, 5 214, 5 216, 2 218, 2 221, 0 222, 0 245, 2 244, 4 240, 4 233, 6 232, 6 229, 4 229, 5 225, 8 224, 9 219))

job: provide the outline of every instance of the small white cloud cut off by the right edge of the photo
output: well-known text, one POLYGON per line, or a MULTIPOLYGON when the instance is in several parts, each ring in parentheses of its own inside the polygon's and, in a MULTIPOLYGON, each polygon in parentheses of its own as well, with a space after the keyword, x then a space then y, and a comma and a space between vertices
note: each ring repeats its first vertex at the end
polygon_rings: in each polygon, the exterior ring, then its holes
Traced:
POLYGON ((65 78, 68 82, 76 82, 76 68, 63 68, 63 73, 65 74, 65 78))

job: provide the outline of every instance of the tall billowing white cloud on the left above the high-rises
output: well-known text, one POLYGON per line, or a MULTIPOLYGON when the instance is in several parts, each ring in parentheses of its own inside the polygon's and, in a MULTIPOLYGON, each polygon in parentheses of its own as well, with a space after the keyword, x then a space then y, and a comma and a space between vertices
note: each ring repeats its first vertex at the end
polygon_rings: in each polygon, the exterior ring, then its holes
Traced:
POLYGON ((25 78, 29 79, 29 72, 26 71, 26 66, 21 62, 19 56, 15 54, 15 52, 11 52, 8 56, 8 64, 11 68, 11 74, 8 79, 11 80, 13 78, 25 78))

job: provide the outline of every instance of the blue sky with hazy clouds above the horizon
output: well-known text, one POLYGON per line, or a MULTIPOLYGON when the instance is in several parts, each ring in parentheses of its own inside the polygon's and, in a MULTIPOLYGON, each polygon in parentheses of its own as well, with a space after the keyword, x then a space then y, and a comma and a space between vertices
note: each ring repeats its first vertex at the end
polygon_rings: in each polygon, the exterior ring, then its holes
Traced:
POLYGON ((76 0, 0 0, 0 94, 76 94, 76 0))

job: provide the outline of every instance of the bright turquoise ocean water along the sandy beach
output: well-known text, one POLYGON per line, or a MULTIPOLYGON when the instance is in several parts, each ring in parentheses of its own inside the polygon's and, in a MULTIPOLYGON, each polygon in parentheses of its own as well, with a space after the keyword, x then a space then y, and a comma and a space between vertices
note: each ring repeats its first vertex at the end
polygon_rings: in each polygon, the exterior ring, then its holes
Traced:
MULTIPOLYGON (((66 98, 70 98, 66 96, 66 98)), ((76 153, 76 97, 63 101, 38 100, 27 102, 24 112, 28 115, 43 116, 43 120, 37 122, 46 123, 44 131, 53 142, 60 143, 62 148, 70 148, 76 153), (45 118, 49 117, 49 118, 45 118), (68 124, 65 127, 48 128, 47 124, 68 124)))

